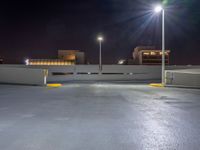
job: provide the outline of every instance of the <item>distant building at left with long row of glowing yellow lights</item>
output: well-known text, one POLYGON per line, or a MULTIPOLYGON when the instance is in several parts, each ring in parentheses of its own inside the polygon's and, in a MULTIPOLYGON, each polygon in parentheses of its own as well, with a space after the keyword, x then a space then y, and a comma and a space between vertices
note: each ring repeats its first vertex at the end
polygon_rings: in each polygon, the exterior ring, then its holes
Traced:
POLYGON ((79 50, 58 50, 58 59, 27 59, 26 65, 67 66, 85 64, 85 53, 79 50))

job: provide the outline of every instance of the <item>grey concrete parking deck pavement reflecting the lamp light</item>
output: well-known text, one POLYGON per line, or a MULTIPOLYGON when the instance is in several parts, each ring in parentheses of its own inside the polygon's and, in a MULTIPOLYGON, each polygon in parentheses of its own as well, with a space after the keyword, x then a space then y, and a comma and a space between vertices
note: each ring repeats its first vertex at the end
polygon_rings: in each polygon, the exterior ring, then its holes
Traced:
POLYGON ((200 90, 140 84, 0 85, 1 150, 200 147, 200 90))

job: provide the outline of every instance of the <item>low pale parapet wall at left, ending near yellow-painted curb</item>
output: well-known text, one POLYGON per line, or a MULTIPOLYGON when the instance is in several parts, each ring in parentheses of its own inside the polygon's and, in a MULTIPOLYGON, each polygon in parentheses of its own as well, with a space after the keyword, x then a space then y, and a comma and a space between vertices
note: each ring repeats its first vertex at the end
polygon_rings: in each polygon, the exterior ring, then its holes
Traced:
POLYGON ((45 69, 20 68, 0 65, 0 83, 46 85, 48 71, 45 69))

